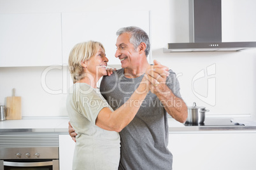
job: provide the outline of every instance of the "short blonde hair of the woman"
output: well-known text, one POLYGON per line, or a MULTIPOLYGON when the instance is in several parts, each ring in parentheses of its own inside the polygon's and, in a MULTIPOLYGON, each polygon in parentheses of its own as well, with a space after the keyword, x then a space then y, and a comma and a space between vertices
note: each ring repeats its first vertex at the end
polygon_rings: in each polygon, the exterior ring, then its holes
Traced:
POLYGON ((73 82, 80 81, 85 77, 83 72, 82 62, 89 60, 92 56, 95 56, 99 48, 103 48, 103 44, 97 41, 80 42, 76 44, 69 53, 69 71, 73 82))

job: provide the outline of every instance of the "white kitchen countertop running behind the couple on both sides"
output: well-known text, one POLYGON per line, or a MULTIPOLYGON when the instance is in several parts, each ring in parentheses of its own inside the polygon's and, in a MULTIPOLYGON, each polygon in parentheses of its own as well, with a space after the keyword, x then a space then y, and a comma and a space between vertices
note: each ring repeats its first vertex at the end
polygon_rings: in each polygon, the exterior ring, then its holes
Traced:
MULTIPOLYGON (((256 133, 256 122, 248 118, 239 118, 236 121, 243 122, 245 126, 185 126, 171 117, 168 119, 168 124, 169 133, 256 133)), ((11 132, 68 134, 68 122, 68 117, 23 117, 21 120, 0 121, 0 134, 11 132)))

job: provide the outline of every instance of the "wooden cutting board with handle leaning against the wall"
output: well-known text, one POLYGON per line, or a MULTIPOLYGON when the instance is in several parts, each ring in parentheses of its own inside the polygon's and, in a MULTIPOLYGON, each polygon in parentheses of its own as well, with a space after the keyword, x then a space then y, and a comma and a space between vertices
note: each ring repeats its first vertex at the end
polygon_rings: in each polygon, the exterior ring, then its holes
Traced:
POLYGON ((8 109, 6 120, 22 119, 21 97, 15 96, 15 89, 13 89, 13 95, 11 97, 6 97, 6 107, 8 109))

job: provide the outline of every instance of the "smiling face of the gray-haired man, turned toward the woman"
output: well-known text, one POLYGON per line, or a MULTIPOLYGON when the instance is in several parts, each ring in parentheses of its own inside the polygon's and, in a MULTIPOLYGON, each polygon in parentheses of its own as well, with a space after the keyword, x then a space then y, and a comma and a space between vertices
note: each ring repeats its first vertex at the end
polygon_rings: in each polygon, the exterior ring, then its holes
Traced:
POLYGON ((139 64, 138 51, 134 49, 134 46, 130 43, 130 34, 124 33, 117 37, 117 51, 115 57, 119 58, 122 64, 122 68, 132 68, 139 64))

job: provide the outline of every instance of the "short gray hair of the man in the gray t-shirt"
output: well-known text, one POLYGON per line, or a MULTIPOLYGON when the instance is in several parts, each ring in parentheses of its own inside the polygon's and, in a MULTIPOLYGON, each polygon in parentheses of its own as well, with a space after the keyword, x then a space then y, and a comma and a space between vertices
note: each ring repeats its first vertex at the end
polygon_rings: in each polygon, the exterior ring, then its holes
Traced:
POLYGON ((141 42, 146 44, 145 54, 148 56, 150 53, 150 41, 148 38, 148 34, 143 29, 139 27, 123 27, 117 30, 117 36, 120 36, 123 33, 131 34, 130 42, 134 46, 134 49, 138 48, 141 42))

